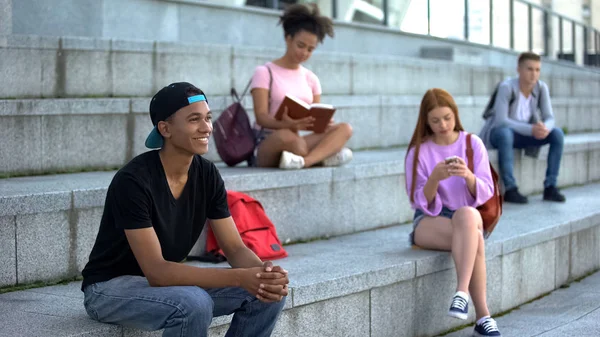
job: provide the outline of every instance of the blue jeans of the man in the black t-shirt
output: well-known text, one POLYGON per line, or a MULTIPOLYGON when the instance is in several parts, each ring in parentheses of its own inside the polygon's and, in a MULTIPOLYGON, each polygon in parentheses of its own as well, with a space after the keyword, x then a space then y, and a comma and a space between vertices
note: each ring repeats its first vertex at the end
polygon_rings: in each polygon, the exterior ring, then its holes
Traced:
POLYGON ((151 287, 141 276, 120 276, 84 289, 88 315, 99 322, 153 331, 163 337, 204 337, 214 316, 235 313, 226 336, 270 336, 285 298, 263 303, 242 288, 151 287))

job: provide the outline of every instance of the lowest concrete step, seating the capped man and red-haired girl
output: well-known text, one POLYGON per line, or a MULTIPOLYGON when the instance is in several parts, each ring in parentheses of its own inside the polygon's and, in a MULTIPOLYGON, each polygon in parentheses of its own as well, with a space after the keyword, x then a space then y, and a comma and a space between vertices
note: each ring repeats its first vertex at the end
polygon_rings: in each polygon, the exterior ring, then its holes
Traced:
MULTIPOLYGON (((486 242, 492 314, 600 268, 598 188, 565 189, 565 204, 506 206, 486 242)), ((409 231, 398 225, 286 247, 290 256, 277 263, 290 272, 291 295, 274 335, 432 336, 464 324, 446 314, 456 285, 450 255, 411 249, 409 231)), ((0 336, 160 336, 92 321, 79 286, 0 295, 0 336)), ((223 336, 229 319, 215 319, 211 336, 223 336)))

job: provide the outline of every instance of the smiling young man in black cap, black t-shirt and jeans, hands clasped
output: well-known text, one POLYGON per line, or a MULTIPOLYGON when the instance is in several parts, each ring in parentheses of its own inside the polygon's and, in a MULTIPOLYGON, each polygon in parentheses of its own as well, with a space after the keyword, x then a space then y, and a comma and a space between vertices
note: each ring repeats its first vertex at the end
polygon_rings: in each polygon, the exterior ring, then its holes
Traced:
POLYGON ((270 336, 287 272, 242 242, 208 151, 211 112, 189 83, 161 89, 150 103, 149 151, 114 176, 96 243, 83 270, 84 305, 95 320, 163 336, 206 336, 213 316, 235 313, 228 336, 270 336), (233 267, 182 264, 206 219, 233 267))

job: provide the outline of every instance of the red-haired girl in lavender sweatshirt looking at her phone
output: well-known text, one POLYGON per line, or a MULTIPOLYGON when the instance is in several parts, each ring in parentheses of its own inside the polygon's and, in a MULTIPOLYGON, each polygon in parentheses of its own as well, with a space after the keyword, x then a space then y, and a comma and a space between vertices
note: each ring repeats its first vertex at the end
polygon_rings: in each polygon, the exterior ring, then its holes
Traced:
POLYGON ((489 200, 494 182, 487 150, 471 135, 473 172, 467 167, 466 133, 458 107, 442 89, 423 96, 406 154, 406 190, 415 209, 411 243, 452 253, 458 284, 448 314, 467 319, 475 305, 474 336, 501 336, 486 300, 483 223, 476 207, 489 200))

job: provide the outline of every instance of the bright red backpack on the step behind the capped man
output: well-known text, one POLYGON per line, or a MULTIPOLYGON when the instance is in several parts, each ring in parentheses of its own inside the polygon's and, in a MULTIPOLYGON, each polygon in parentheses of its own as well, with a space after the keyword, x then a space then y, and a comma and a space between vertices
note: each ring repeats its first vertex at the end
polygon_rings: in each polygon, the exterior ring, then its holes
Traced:
MULTIPOLYGON (((227 191, 227 205, 242 241, 261 260, 288 256, 277 238, 275 225, 265 214, 260 202, 244 193, 227 191)), ((208 227, 206 252, 213 256, 223 256, 211 227, 208 227)))

